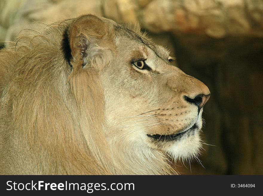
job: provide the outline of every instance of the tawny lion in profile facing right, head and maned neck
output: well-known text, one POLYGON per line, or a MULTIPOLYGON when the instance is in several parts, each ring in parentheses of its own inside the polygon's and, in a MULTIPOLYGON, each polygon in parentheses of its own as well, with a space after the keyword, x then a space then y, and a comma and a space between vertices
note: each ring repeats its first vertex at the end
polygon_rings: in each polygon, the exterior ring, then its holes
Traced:
POLYGON ((0 174, 176 174, 210 91, 173 60, 94 15, 26 30, 0 52, 0 174))

